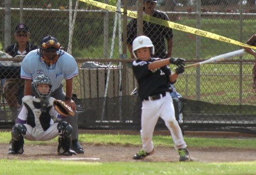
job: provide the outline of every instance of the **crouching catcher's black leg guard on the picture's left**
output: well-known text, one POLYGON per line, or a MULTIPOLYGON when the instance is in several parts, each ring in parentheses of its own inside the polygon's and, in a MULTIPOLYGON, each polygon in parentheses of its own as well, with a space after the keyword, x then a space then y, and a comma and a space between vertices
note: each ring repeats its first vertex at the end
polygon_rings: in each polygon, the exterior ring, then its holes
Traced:
POLYGON ((12 127, 12 140, 10 142, 8 154, 22 154, 24 152, 24 136, 27 128, 24 124, 15 124, 12 127))

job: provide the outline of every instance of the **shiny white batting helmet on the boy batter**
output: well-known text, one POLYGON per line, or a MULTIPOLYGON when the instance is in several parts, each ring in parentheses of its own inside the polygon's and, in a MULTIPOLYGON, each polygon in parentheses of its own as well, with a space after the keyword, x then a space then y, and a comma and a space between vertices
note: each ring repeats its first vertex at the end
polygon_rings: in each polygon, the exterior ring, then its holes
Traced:
POLYGON ((154 54, 154 45, 151 41, 151 39, 148 36, 138 36, 137 38, 134 39, 133 41, 133 54, 134 57, 137 57, 136 55, 136 50, 141 49, 142 47, 151 47, 151 55, 154 54))

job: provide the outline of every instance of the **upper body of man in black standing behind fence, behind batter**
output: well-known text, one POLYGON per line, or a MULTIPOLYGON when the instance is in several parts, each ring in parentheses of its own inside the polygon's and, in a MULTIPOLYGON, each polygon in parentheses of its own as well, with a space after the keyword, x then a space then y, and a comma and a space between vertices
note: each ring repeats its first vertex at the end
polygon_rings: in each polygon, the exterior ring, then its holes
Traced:
MULTIPOLYGON (((144 13, 151 15, 151 17, 168 20, 166 13, 154 8, 157 5, 157 0, 143 0, 144 13)), ((155 48, 153 58, 170 58, 172 56, 173 48, 173 30, 165 26, 160 26, 155 23, 143 21, 143 35, 148 36, 155 48), (165 39, 167 40, 167 49, 165 39)), ((131 19, 127 26, 127 46, 131 58, 133 55, 133 41, 137 37, 137 19, 131 19)))

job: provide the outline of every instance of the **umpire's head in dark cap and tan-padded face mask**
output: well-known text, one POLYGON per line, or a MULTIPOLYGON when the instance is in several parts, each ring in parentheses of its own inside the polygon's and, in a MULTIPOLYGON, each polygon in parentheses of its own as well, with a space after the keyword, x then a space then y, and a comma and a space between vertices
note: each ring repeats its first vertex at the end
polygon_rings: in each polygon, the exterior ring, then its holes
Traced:
POLYGON ((55 63, 58 61, 59 57, 64 54, 64 51, 61 50, 58 40, 51 35, 42 39, 39 51, 39 55, 46 63, 46 67, 48 69, 54 69, 55 63))

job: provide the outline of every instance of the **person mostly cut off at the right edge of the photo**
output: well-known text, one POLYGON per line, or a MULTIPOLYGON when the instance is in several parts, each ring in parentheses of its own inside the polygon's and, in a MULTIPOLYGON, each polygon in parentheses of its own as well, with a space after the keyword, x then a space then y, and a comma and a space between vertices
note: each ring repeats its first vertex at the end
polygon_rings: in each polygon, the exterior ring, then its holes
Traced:
MULTIPOLYGON (((256 34, 252 35, 250 39, 246 42, 248 45, 256 46, 256 34)), ((250 48, 250 47, 243 47, 244 50, 254 56, 256 59, 256 52, 250 48)), ((256 62, 254 63, 253 69, 252 69, 252 75, 253 75, 253 84, 252 88, 255 90, 256 88, 256 62)))

